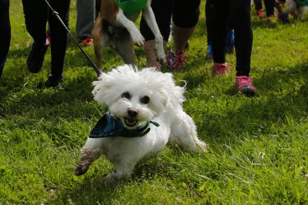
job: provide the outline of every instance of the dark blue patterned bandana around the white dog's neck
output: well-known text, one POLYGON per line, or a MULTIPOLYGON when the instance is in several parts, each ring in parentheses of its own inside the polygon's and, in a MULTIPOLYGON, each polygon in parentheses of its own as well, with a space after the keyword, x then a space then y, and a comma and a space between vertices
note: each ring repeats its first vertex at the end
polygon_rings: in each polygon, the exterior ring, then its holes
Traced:
POLYGON ((124 127, 123 123, 118 117, 113 117, 108 111, 104 114, 91 130, 89 138, 102 138, 102 137, 142 137, 150 132, 150 123, 159 127, 157 122, 143 121, 139 127, 129 130, 124 127))

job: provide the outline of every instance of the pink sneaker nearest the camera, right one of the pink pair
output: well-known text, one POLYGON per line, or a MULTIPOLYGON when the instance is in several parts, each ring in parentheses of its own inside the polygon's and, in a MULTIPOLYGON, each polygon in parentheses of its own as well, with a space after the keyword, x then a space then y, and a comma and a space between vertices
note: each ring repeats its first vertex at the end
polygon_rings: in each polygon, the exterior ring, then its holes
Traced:
POLYGON ((241 92, 247 96, 253 96, 257 93, 257 89, 252 85, 253 76, 235 76, 235 88, 238 92, 241 92))

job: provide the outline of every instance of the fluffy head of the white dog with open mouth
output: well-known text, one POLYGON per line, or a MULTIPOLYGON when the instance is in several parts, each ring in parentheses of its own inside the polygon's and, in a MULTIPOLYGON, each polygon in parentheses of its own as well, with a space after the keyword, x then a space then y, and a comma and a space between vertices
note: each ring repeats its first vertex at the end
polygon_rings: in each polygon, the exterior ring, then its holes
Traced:
POLYGON ((109 107, 128 129, 142 121, 150 121, 167 106, 174 82, 170 73, 147 68, 138 71, 130 65, 102 73, 101 81, 93 82, 94 99, 109 107))

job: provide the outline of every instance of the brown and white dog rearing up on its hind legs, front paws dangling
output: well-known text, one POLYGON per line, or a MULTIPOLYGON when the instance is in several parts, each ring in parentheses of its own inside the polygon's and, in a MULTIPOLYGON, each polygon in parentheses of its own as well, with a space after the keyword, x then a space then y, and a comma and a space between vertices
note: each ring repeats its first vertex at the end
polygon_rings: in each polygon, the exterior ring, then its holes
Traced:
MULTIPOLYGON (((140 11, 127 16, 114 0, 101 0, 100 14, 92 31, 97 67, 102 72, 102 55, 104 47, 111 47, 120 55, 125 64, 136 64, 134 44, 144 45, 144 37, 135 26, 140 11)), ((163 37, 158 29, 151 0, 142 9, 145 22, 155 36, 156 58, 161 64, 166 63, 163 37)))

